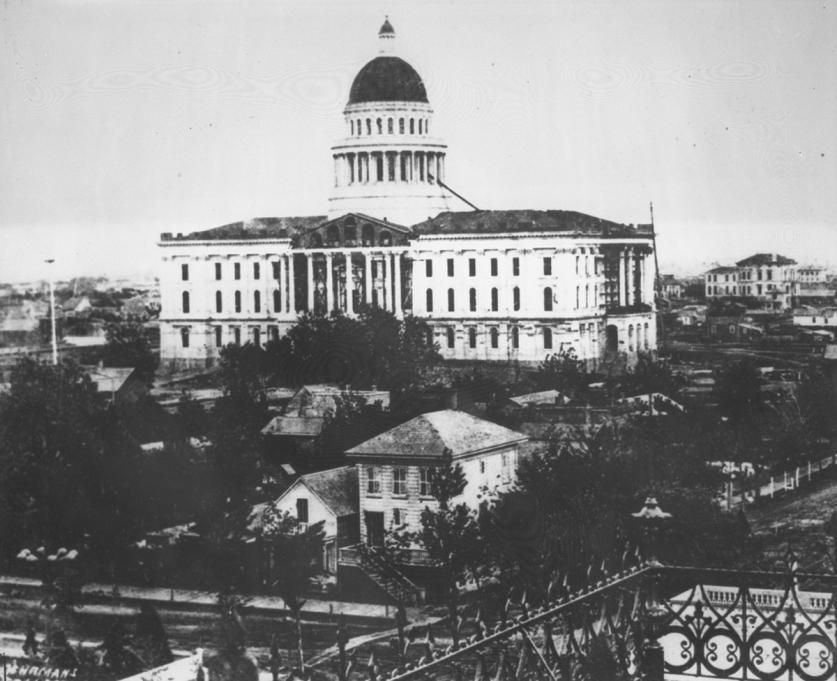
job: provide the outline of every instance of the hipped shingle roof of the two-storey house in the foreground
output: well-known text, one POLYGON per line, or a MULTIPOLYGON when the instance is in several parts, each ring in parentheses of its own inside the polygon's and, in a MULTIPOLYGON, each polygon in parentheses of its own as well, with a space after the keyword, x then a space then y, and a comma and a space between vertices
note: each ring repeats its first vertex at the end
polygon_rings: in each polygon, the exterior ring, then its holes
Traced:
POLYGON ((527 439, 523 433, 464 411, 444 409, 416 416, 346 454, 357 458, 439 459, 449 449, 457 459, 527 439))

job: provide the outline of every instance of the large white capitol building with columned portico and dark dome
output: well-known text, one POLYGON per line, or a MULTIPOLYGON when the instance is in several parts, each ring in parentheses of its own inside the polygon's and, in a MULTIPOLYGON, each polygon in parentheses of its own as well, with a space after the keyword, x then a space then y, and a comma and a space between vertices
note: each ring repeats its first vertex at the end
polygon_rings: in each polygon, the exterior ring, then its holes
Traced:
POLYGON ((450 359, 535 363, 573 349, 594 367, 656 350, 652 225, 475 209, 448 187, 447 146, 388 20, 378 39, 331 148, 327 215, 161 235, 162 363, 208 366, 305 312, 363 305, 424 319, 450 359))

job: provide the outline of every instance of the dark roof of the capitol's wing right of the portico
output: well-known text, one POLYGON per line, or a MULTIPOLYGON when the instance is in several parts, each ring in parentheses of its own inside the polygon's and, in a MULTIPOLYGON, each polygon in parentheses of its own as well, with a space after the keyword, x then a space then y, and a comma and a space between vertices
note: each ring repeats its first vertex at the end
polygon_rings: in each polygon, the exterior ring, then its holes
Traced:
POLYGON ((413 225, 415 234, 561 232, 613 237, 650 236, 651 225, 625 225, 570 210, 446 211, 413 225))

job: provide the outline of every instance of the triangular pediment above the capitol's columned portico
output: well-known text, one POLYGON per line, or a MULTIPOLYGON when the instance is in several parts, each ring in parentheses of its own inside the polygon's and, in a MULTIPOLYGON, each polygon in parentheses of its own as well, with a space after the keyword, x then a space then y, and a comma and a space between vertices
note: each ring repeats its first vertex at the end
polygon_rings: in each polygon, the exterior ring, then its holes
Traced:
POLYGON ((295 248, 355 248, 374 246, 405 246, 412 232, 392 222, 347 213, 327 220, 294 237, 295 248))

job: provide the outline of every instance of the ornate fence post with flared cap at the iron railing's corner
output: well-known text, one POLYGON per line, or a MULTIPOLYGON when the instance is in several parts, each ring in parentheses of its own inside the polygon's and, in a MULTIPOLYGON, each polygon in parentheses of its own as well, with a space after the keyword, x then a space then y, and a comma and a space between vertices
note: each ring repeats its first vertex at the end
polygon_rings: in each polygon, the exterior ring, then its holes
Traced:
POLYGON ((663 647, 660 645, 659 639, 662 634, 663 625, 668 619, 668 611, 660 601, 659 596, 660 568, 662 567, 662 563, 657 559, 657 535, 660 530, 660 525, 666 519, 671 518, 671 513, 663 511, 654 497, 648 497, 642 509, 631 515, 642 523, 647 556, 645 562, 651 568, 643 612, 643 642, 640 672, 643 681, 663 681, 665 659, 663 657, 663 647))

